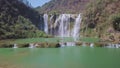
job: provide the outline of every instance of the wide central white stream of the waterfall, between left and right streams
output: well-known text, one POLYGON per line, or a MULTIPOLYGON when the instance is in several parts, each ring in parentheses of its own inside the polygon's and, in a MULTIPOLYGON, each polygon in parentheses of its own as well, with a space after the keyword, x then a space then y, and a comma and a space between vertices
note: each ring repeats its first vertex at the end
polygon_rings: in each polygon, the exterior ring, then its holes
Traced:
MULTIPOLYGON (((70 37, 70 33, 69 33, 69 26, 70 26, 70 14, 62 14, 60 16, 60 22, 59 22, 59 36, 61 37, 61 46, 64 47, 64 38, 65 37, 70 37)), ((67 44, 66 44, 67 46, 67 44)))

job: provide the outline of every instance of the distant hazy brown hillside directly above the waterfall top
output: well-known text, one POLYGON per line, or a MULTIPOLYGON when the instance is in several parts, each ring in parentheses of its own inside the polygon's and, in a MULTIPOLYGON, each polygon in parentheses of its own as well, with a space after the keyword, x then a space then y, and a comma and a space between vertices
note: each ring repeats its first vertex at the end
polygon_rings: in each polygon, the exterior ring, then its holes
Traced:
POLYGON ((80 13, 90 0, 51 0, 36 8, 40 13, 80 13))

